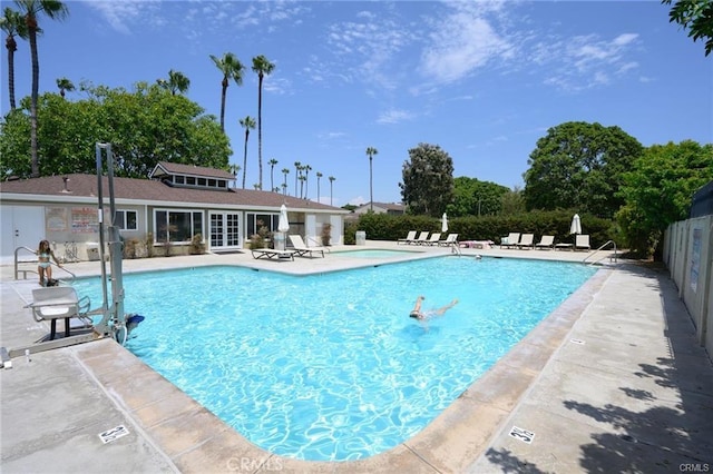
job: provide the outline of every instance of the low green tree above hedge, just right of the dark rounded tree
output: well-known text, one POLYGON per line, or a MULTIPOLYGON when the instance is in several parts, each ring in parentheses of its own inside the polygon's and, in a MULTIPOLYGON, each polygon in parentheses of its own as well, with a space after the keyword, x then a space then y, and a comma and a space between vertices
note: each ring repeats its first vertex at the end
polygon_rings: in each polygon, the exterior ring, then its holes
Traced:
POLYGON ((465 176, 453 180, 453 201, 447 207, 450 217, 499 214, 502 195, 509 189, 495 182, 465 176))

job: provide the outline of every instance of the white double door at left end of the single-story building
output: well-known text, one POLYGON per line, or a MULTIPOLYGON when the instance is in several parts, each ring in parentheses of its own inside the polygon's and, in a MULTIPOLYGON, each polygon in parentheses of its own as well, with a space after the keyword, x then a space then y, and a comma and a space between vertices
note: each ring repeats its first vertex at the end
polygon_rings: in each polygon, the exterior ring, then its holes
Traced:
MULTIPOLYGON (((14 263, 14 249, 27 247, 37 249, 45 238, 45 208, 42 206, 2 206, 2 250, 0 263, 14 263)), ((27 250, 18 251, 20 259, 28 259, 31 254, 27 250)))

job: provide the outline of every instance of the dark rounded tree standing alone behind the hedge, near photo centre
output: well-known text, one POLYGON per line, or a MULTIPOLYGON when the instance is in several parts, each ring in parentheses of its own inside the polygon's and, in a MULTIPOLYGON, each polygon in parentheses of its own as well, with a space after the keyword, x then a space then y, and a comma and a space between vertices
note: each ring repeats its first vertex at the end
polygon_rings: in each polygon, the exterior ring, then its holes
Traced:
POLYGON ((438 145, 419 144, 403 162, 401 196, 410 214, 438 217, 453 196, 453 160, 438 145))

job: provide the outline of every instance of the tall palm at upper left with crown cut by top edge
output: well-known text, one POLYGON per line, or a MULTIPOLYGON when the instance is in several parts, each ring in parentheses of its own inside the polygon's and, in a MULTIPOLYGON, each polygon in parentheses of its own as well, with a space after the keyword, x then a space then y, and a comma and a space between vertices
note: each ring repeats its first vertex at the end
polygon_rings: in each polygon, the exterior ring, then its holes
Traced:
POLYGON ((37 55, 37 33, 40 27, 37 17, 45 13, 52 20, 62 20, 69 14, 69 8, 59 0, 14 0, 20 14, 25 17, 30 56, 32 57, 32 93, 30 96, 30 152, 32 159, 32 177, 40 176, 40 164, 37 157, 37 97, 40 83, 40 61, 37 55))

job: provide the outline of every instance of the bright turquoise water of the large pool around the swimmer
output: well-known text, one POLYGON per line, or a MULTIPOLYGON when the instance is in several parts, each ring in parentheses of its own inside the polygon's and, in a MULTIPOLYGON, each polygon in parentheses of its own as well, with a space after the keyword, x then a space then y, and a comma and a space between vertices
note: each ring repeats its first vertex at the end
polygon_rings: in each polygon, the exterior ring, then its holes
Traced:
MULTIPOLYGON (((237 267, 125 276, 127 347, 256 445, 364 458, 427 426, 595 269, 430 258, 314 276, 237 267), (428 327, 410 318, 453 298, 428 327)), ((78 280, 101 300, 99 279, 78 280)))

